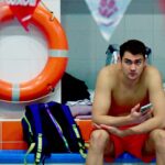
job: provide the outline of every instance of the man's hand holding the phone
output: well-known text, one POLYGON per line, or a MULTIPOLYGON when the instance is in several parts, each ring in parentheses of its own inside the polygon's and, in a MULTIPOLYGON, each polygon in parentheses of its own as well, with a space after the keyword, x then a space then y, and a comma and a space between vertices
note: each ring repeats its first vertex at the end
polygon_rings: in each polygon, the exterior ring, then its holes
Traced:
POLYGON ((142 113, 139 110, 140 110, 140 103, 138 103, 131 109, 131 113, 129 114, 131 124, 142 123, 145 120, 152 118, 153 109, 148 110, 146 113, 142 113))

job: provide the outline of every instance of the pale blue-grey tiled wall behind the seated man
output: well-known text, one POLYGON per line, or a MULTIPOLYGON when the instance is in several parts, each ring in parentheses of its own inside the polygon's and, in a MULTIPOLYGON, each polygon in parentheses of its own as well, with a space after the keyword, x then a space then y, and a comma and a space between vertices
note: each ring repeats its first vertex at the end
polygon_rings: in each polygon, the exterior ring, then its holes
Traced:
POLYGON ((84 0, 62 1, 62 24, 69 41, 67 72, 94 89, 98 70, 106 64, 109 44, 129 38, 142 40, 153 50, 153 64, 165 81, 165 15, 158 0, 132 0, 112 37, 106 42, 84 0))

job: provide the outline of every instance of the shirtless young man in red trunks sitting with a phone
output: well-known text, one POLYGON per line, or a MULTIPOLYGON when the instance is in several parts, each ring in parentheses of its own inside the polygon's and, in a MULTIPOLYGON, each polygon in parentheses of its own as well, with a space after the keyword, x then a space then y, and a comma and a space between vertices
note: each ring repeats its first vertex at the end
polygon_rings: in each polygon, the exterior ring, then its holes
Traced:
POLYGON ((120 62, 98 76, 92 107, 95 131, 86 165, 102 165, 123 152, 165 165, 165 95, 158 70, 146 64, 145 45, 130 40, 120 46, 120 62), (152 102, 153 109, 140 112, 152 102), (152 118, 151 118, 152 113, 152 118))

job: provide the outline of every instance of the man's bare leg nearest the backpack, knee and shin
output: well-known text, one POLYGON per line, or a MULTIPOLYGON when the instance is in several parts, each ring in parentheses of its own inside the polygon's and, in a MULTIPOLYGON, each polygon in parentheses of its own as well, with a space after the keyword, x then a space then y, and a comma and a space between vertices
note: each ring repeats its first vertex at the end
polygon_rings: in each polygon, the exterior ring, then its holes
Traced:
POLYGON ((113 146, 110 145, 109 133, 105 130, 96 130, 91 133, 90 145, 86 165, 103 165, 103 155, 110 154, 113 146))

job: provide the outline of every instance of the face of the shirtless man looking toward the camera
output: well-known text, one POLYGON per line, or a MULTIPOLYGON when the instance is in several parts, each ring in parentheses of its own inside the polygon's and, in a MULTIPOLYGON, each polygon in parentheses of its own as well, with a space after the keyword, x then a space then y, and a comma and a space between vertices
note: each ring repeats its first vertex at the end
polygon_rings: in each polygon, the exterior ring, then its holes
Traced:
POLYGON ((132 80, 135 80, 141 76, 145 65, 146 63, 143 55, 132 55, 130 52, 125 52, 121 61, 124 76, 132 80))

